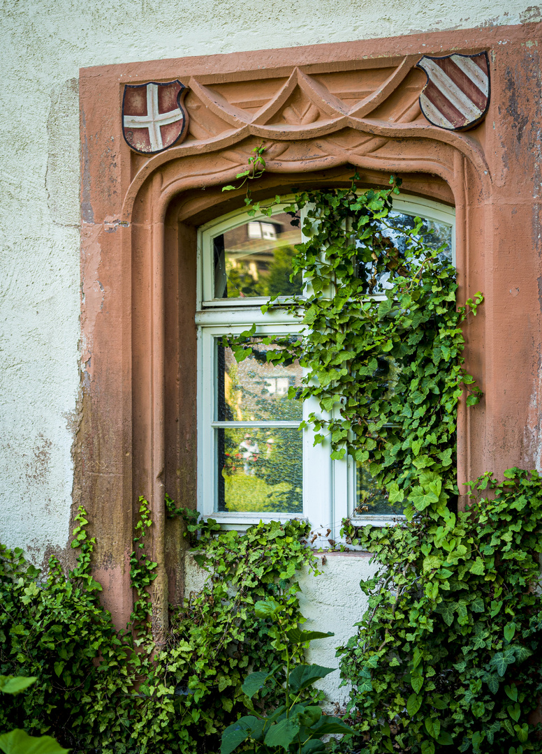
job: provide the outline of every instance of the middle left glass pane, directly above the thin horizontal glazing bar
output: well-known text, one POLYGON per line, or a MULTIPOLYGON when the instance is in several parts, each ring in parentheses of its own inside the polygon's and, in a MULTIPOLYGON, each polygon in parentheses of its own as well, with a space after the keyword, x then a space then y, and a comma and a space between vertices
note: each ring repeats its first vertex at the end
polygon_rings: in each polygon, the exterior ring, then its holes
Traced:
POLYGON ((288 397, 289 388, 301 385, 299 361, 274 365, 267 354, 279 346, 253 339, 253 348, 249 357, 237 363, 231 348, 217 342, 217 420, 301 421, 302 401, 288 397))

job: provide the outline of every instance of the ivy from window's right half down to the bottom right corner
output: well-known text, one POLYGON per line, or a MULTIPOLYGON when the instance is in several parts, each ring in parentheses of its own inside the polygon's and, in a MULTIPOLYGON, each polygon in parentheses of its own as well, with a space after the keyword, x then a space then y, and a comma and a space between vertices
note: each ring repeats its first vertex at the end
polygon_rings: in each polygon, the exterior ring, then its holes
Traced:
MULTIPOLYGON (((295 358, 307 370, 289 397, 318 400, 308 417, 316 442, 328 437, 332 458, 351 455, 404 507, 393 527, 343 523, 346 542, 379 568, 361 582, 369 605, 357 635, 338 651, 364 743, 346 737, 335 748, 540 752, 530 714, 542 691, 542 480, 519 469, 503 483, 485 474, 471 483, 470 507, 457 510, 458 401, 466 394, 474 406, 481 396, 464 369, 461 326, 482 295, 458 306, 446 247, 419 218, 395 222, 397 179, 365 192, 356 180, 286 207, 304 210, 307 240, 292 274, 302 271, 306 295, 286 302, 300 335, 264 341, 281 346, 269 361, 295 358)), ((284 305, 275 298, 263 310, 284 305)), ((228 339, 237 360, 257 348, 255 333, 228 339)), ((362 496, 359 512, 370 502, 362 496)))

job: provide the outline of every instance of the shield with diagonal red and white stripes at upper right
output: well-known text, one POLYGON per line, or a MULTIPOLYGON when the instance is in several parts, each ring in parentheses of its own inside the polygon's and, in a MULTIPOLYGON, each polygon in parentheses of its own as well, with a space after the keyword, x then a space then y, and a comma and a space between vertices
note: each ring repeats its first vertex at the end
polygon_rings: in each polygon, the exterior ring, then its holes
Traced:
POLYGON ((421 90, 420 108, 427 120, 449 131, 472 128, 489 106, 488 54, 424 55, 417 68, 427 74, 421 90))

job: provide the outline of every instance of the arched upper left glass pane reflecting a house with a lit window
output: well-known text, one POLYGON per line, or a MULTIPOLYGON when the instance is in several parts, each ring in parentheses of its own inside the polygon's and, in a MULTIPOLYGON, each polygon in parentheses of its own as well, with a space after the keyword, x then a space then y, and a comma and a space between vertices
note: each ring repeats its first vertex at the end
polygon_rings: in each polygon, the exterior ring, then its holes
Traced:
POLYGON ((294 245, 301 241, 299 217, 285 212, 248 220, 216 236, 215 299, 301 294, 301 274, 289 279, 294 245))

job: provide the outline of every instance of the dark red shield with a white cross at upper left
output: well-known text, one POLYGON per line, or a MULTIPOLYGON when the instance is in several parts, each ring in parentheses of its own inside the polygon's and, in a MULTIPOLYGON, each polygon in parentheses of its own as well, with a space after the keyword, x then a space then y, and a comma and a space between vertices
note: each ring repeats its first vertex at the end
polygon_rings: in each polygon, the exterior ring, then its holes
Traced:
POLYGON ((124 86, 122 133, 134 152, 155 155, 182 141, 188 131, 182 106, 186 91, 177 80, 124 86))

